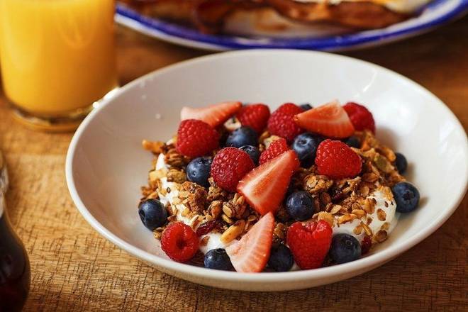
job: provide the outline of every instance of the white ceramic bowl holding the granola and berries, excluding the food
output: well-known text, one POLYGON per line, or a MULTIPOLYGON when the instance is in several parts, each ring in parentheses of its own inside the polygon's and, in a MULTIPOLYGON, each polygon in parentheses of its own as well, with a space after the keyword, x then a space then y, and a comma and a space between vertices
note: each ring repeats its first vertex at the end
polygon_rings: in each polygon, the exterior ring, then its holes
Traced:
POLYGON ((157 70, 127 84, 96 108, 74 135, 67 184, 77 208, 101 235, 175 277, 226 289, 301 289, 354 277, 428 237, 455 211, 467 189, 467 136, 442 101, 415 82, 349 57, 294 50, 226 52, 157 70), (167 140, 182 106, 218 101, 322 104, 330 99, 369 107, 377 136, 410 162, 420 207, 400 218, 389 240, 360 260, 299 272, 222 272, 169 260, 137 213, 152 156, 141 140, 167 140))

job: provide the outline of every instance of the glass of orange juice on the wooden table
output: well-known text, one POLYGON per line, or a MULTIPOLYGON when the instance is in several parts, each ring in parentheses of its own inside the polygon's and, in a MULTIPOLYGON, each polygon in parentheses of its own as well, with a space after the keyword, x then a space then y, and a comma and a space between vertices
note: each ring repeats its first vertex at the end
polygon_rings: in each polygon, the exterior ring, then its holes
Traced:
POLYGON ((114 0, 0 0, 0 67, 14 115, 72 130, 118 86, 114 0))

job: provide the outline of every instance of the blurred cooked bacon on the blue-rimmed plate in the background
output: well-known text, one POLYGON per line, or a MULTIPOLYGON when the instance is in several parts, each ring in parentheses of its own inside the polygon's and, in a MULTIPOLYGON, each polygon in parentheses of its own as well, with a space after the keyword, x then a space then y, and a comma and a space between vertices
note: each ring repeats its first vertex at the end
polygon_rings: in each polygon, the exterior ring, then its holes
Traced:
POLYGON ((148 16, 196 26, 218 33, 236 10, 272 8, 280 15, 304 23, 332 22, 360 29, 383 28, 408 18, 370 1, 340 4, 303 3, 293 0, 121 0, 148 16))

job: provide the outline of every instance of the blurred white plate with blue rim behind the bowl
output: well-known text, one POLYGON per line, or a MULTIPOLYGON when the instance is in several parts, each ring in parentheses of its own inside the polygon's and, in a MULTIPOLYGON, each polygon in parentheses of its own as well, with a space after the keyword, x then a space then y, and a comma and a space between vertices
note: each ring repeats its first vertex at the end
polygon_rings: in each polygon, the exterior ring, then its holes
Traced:
POLYGON ((425 6, 417 17, 387 28, 343 33, 342 28, 318 25, 307 26, 307 29, 291 28, 274 36, 255 30, 253 21, 248 18, 242 23, 243 29, 237 29, 248 35, 212 35, 177 23, 143 16, 123 4, 117 4, 116 21, 154 38, 204 50, 294 48, 342 51, 383 45, 419 35, 463 16, 467 11, 468 0, 435 0, 425 6))

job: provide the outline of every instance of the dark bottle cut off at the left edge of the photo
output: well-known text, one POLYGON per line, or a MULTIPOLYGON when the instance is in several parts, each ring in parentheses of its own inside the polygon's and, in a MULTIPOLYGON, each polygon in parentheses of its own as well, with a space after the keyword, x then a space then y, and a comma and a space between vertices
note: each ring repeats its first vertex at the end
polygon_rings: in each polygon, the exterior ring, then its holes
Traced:
POLYGON ((5 211, 7 186, 6 168, 0 151, 0 312, 21 311, 30 284, 28 255, 13 232, 5 211))

